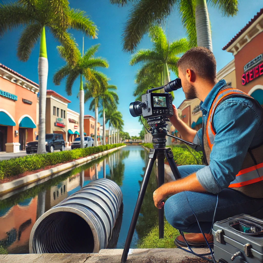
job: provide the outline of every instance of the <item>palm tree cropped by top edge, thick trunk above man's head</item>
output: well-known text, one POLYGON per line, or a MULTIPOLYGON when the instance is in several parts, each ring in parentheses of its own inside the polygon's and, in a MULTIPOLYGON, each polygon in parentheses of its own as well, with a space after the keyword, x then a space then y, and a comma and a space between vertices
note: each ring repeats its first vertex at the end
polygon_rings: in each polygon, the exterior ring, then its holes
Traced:
MULTIPOLYGON (((132 0, 110 0, 124 6, 132 0)), ((223 16, 237 14, 237 0, 212 0, 211 6, 219 8, 223 16)), ((123 50, 134 52, 144 34, 156 22, 165 21, 178 5, 181 21, 186 29, 191 47, 196 45, 212 51, 210 21, 206 0, 139 0, 135 1, 123 33, 123 50)))

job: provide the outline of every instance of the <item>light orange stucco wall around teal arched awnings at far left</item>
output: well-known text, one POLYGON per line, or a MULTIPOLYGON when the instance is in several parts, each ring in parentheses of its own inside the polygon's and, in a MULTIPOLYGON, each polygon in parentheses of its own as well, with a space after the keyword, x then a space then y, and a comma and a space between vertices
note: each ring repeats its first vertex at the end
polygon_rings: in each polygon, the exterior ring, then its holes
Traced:
MULTIPOLYGON (((18 142, 19 135, 15 135, 14 131, 19 129, 18 120, 20 117, 27 114, 37 123, 37 94, 2 77, 0 77, 0 89, 17 96, 17 101, 0 96, 0 108, 11 114, 16 122, 16 126, 8 126, 7 143, 18 142), (26 104, 22 99, 30 100, 32 104, 26 104)), ((27 141, 35 139, 35 130, 28 129, 27 141)))

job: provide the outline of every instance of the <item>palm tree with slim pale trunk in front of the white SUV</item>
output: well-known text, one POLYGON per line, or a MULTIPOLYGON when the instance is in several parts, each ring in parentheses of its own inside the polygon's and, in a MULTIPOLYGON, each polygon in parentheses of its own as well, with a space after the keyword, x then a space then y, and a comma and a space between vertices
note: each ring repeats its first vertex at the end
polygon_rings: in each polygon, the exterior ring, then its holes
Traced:
MULTIPOLYGON (((84 89, 82 76, 89 83, 96 83, 98 76, 97 67, 107 68, 108 63, 105 59, 101 57, 94 57, 95 52, 97 52, 99 44, 94 45, 87 49, 87 51, 82 51, 82 56, 80 50, 77 49, 77 62, 75 65, 70 64, 68 59, 68 54, 64 47, 58 46, 58 53, 66 61, 66 65, 61 67, 53 76, 53 82, 55 85, 60 85, 62 79, 66 78, 66 92, 69 96, 72 95, 72 85, 74 81, 80 76, 80 87, 79 87, 79 108, 80 108, 80 147, 84 148, 84 89)), ((96 123, 95 123, 96 125, 96 123)), ((97 126, 97 125, 96 125, 97 126)), ((95 144, 96 144, 95 140, 95 144)))

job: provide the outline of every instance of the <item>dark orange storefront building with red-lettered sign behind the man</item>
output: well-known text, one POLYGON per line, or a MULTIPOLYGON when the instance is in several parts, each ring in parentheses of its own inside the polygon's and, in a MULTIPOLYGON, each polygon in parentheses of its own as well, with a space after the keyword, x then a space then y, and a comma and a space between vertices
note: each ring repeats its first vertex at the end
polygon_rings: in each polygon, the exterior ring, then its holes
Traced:
MULTIPOLYGON (((262 43, 263 8, 222 48, 234 55, 236 88, 251 95, 261 105, 263 105, 262 43)), ((222 70, 226 67, 227 65, 222 70)), ((224 78, 228 78, 229 74, 224 78)), ((234 85, 232 83, 231 86, 234 87, 234 85)))

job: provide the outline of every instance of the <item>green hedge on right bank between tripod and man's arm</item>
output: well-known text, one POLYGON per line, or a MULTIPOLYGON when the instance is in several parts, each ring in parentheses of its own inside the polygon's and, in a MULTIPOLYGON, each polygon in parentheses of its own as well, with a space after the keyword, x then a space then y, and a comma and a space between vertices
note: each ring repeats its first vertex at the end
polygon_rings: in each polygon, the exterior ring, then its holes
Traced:
MULTIPOLYGON (((142 143, 147 148, 153 148, 151 143, 142 143)), ((177 165, 186 165, 186 164, 202 164, 202 152, 196 152, 191 147, 184 144, 167 146, 172 149, 174 154, 174 160, 177 165)))

